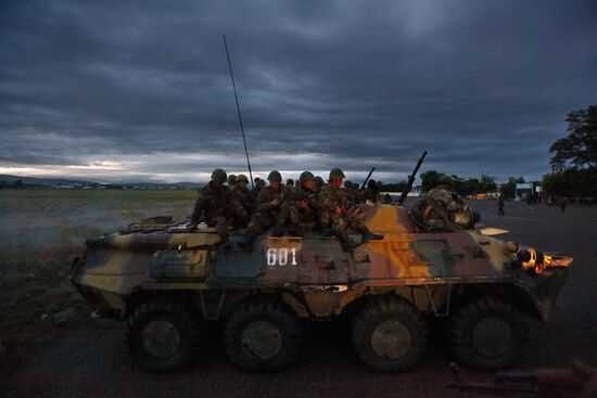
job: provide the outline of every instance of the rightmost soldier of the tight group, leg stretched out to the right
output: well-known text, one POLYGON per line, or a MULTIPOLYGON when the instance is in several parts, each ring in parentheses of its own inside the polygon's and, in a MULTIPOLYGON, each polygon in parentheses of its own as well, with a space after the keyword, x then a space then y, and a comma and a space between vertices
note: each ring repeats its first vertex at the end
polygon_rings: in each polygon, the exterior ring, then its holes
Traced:
POLYGON ((334 168, 330 171, 329 183, 317 195, 319 206, 319 223, 323 235, 333 233, 342 244, 344 251, 358 246, 348 237, 347 229, 363 234, 361 243, 371 240, 382 240, 383 235, 372 233, 369 228, 354 214, 346 211, 346 197, 341 189, 344 172, 334 168))

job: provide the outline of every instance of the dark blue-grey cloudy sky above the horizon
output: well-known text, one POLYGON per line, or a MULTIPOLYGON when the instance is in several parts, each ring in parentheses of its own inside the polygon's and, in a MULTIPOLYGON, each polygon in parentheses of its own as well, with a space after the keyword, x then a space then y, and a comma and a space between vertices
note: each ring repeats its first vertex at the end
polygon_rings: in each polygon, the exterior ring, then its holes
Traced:
POLYGON ((2 1, 0 174, 539 177, 597 103, 595 1, 2 1))

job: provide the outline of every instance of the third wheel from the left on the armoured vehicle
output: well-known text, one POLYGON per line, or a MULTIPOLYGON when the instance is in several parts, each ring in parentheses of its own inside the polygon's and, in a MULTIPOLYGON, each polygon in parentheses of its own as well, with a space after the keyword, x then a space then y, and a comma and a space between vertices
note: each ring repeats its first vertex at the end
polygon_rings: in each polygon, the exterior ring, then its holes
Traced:
POLYGON ((408 301, 374 298, 353 319, 353 344, 360 359, 378 371, 411 368, 427 344, 427 325, 408 301))

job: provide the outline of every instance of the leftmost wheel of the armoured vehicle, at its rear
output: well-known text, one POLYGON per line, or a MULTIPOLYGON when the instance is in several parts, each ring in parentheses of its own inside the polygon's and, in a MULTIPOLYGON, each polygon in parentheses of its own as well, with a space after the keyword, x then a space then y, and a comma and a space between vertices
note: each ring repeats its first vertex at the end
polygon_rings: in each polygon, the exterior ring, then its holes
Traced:
POLYGON ((198 354, 204 328, 182 301, 156 298, 128 318, 127 344, 137 364, 150 372, 173 372, 198 354))

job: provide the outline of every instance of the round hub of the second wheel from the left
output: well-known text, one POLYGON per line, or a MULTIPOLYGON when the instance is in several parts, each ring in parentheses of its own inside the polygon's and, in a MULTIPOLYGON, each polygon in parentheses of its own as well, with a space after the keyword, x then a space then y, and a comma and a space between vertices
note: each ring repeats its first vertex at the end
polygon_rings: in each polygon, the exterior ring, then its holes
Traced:
POLYGON ((241 342, 251 356, 267 360, 282 348, 282 334, 274 323, 256 321, 245 328, 241 342))

